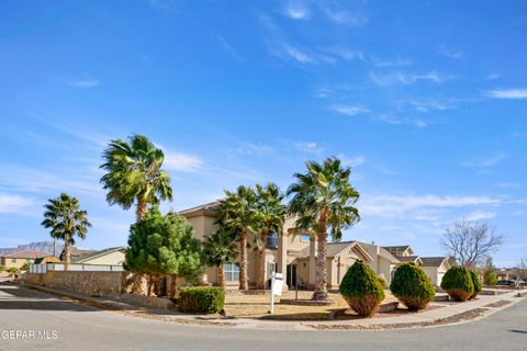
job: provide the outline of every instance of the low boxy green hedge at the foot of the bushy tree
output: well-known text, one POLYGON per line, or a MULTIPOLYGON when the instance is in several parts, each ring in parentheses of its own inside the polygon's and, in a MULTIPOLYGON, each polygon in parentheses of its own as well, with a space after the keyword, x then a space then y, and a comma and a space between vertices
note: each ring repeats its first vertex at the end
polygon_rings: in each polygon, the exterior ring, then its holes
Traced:
POLYGON ((181 287, 178 309, 192 314, 216 314, 225 305, 225 291, 217 286, 181 287))

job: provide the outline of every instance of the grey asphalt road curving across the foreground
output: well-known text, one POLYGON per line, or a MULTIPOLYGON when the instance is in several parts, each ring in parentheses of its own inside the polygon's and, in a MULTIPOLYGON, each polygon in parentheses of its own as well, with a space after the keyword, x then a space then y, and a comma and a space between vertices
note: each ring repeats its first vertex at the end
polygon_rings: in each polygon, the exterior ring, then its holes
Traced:
POLYGON ((450 327, 240 330, 123 316, 0 282, 0 350, 527 350, 527 301, 450 327))

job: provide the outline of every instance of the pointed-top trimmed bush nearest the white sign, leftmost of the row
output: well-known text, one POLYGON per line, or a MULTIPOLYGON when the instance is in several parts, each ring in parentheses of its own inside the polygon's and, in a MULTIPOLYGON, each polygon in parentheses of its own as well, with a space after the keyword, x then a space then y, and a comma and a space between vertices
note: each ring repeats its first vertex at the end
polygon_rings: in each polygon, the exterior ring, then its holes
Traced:
POLYGON ((379 278, 361 260, 348 269, 339 291, 349 307, 362 317, 371 317, 384 299, 379 278))

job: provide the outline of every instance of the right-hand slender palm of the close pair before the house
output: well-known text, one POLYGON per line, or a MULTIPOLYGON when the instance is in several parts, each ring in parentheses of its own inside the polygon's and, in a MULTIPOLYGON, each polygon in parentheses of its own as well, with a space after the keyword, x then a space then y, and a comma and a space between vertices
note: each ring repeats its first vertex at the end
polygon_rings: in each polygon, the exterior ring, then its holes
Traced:
POLYGON ((257 288, 264 288, 264 264, 267 245, 267 235, 276 233, 280 235, 285 220, 287 206, 283 204, 284 195, 277 184, 268 183, 266 186, 256 184, 257 211, 260 219, 260 242, 258 245, 258 268, 256 270, 257 288))

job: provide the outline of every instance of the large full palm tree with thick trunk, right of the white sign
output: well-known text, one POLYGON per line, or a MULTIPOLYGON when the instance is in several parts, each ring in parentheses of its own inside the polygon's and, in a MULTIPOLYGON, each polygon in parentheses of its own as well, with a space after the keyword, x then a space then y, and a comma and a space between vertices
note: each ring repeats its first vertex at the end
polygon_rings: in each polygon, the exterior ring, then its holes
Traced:
POLYGON ((333 240, 340 240, 343 229, 360 220, 354 207, 359 193, 349 183, 351 169, 343 168, 337 158, 327 158, 324 163, 305 163, 306 173, 295 173, 296 182, 288 189, 292 196, 290 212, 296 215, 295 226, 301 230, 312 230, 318 240, 316 257, 316 284, 312 299, 327 299, 327 235, 330 229, 333 240))

